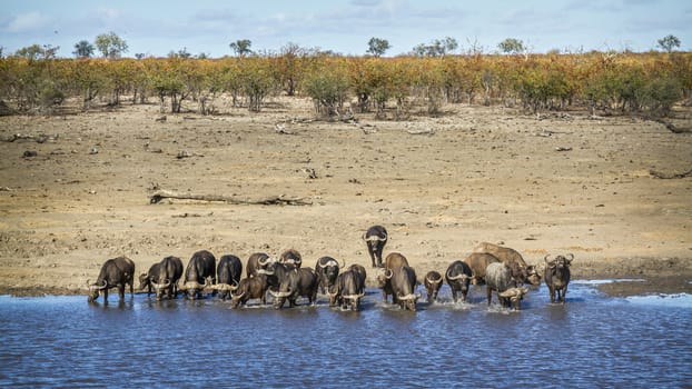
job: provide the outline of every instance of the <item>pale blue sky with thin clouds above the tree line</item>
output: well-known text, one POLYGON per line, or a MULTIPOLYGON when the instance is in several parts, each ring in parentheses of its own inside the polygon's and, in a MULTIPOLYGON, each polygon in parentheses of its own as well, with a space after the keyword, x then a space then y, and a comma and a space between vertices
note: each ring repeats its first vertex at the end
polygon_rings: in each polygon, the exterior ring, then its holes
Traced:
POLYGON ((656 49, 668 34, 692 51, 689 0, 0 0, 0 47, 13 53, 38 44, 60 47, 113 31, 129 46, 125 57, 233 54, 229 43, 249 39, 251 49, 279 51, 288 42, 343 54, 364 54, 372 37, 386 39, 386 56, 452 37, 457 53, 472 43, 495 52, 505 38, 532 52, 656 49))

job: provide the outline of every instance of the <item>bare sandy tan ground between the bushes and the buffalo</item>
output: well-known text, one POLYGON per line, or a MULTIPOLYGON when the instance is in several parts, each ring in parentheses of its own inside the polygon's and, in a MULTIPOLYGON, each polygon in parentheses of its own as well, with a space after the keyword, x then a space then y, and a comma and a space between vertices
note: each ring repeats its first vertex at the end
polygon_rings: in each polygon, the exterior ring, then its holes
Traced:
POLYGON ((604 286, 611 293, 692 292, 692 177, 650 174, 692 168, 692 133, 468 106, 329 122, 298 98, 260 113, 160 117, 125 104, 0 118, 0 293, 86 293, 108 258, 128 256, 140 272, 200 249, 246 260, 295 248, 307 265, 332 256, 369 270, 360 237, 372 225, 419 278, 490 241, 530 263, 574 253, 573 278, 644 280, 604 286), (156 190, 249 203, 152 205, 156 190), (275 196, 310 205, 251 203, 275 196))

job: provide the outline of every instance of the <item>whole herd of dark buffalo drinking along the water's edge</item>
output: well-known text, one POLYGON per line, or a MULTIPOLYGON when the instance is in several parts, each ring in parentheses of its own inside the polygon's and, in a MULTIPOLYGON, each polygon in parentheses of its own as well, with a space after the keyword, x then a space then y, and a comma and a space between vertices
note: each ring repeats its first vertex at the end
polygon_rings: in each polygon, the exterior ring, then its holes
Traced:
MULTIPOLYGON (((541 275, 536 266, 528 266, 518 251, 494 243, 483 242, 476 246, 464 260, 449 263, 444 272, 428 271, 418 281, 416 271, 406 257, 399 252, 389 252, 383 260, 383 250, 388 233, 382 226, 373 226, 363 235, 377 287, 382 289, 384 302, 398 305, 403 310, 415 311, 421 293, 416 286, 423 283, 427 302, 434 303, 443 283, 446 282, 454 302, 467 301, 471 286, 485 285, 487 303, 493 300, 493 291, 498 302, 506 308, 521 309, 521 301, 530 292, 531 286, 541 285, 541 275)), ((573 255, 544 257, 543 281, 547 286, 551 302, 565 303, 570 283, 570 266, 573 255)), ((180 293, 188 299, 202 298, 206 295, 230 299, 231 307, 238 308, 250 299, 267 303, 267 295, 273 297, 274 308, 280 309, 286 302, 295 307, 299 298, 306 298, 315 305, 318 292, 329 298, 330 307, 359 310, 365 296, 366 270, 360 265, 346 267, 344 261, 332 257, 322 257, 315 268, 304 267, 303 257, 296 249, 288 249, 278 257, 264 252, 253 253, 246 265, 243 278, 243 261, 233 255, 216 257, 200 250, 192 255, 182 267, 178 257, 166 257, 139 275, 139 289, 147 295, 155 293, 157 301, 175 299, 180 293)), ((100 295, 108 301, 108 290, 118 288, 120 299, 125 298, 125 288, 129 286, 134 295, 135 262, 126 257, 107 260, 101 267, 96 282, 89 286, 89 302, 100 295)))

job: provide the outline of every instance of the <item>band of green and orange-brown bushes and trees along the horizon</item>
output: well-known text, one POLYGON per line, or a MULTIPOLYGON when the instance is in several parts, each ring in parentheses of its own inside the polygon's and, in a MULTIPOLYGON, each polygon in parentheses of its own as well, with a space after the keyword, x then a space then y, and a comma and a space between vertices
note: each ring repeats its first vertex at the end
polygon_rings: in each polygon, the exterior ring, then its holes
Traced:
POLYGON ((319 116, 350 110, 403 119, 413 109, 437 114, 444 103, 665 116, 692 96, 692 53, 672 50, 534 54, 521 41, 506 40, 505 54, 454 54, 455 41, 437 40, 408 56, 383 58, 388 42, 373 38, 363 57, 296 44, 258 54, 241 40, 234 42, 235 57, 135 59, 117 54, 125 42, 109 42, 99 49, 102 58, 56 58, 52 47, 39 48, 40 56, 0 58, 0 100, 21 113, 51 111, 68 98, 80 99, 83 110, 95 101, 118 106, 127 96, 131 103, 154 100, 170 112, 212 114, 223 113, 221 94, 257 112, 267 97, 283 93, 312 98, 319 116))

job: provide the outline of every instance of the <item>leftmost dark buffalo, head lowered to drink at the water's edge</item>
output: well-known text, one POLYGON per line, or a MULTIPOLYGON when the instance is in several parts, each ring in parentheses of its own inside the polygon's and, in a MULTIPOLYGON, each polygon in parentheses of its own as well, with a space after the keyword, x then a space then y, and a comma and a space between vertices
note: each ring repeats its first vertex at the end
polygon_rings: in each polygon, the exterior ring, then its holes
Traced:
POLYGON ((130 285, 130 296, 135 293, 132 286, 135 278, 135 262, 127 257, 109 259, 101 266, 99 277, 89 285, 89 302, 95 301, 99 293, 103 293, 103 301, 108 302, 108 289, 118 288, 118 297, 125 299, 125 286, 130 285))

